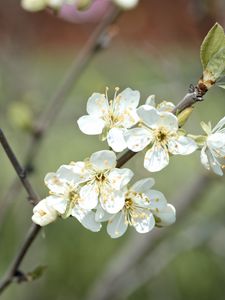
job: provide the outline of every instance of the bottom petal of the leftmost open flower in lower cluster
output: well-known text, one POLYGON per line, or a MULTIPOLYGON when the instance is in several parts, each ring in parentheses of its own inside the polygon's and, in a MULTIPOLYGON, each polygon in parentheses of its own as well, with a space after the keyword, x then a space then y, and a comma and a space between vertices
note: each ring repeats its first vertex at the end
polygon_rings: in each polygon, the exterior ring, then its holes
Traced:
POLYGON ((82 209, 79 206, 76 206, 72 210, 72 216, 75 217, 85 228, 98 232, 102 225, 95 220, 95 213, 93 211, 82 209))

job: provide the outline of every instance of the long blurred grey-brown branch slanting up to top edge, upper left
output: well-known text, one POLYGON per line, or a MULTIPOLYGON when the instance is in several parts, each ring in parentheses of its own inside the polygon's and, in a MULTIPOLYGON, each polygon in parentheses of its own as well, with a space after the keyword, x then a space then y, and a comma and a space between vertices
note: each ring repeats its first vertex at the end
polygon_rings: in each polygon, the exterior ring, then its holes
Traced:
MULTIPOLYGON (((46 134, 50 125, 53 124, 57 115, 61 111, 63 104, 65 103, 66 97, 77 83, 87 65, 90 63, 93 57, 101 49, 104 49, 104 47, 109 43, 109 40, 112 38, 112 35, 110 32, 108 32, 109 26, 116 21, 119 15, 120 10, 116 6, 111 7, 102 22, 100 22, 100 24, 91 34, 78 57, 77 55, 75 56, 76 58, 72 63, 72 66, 50 99, 48 107, 43 111, 42 115, 39 117, 34 126, 28 150, 25 154, 25 170, 29 172, 32 171, 33 161, 37 155, 44 134, 46 134)), ((2 199, 2 206, 0 209, 0 224, 1 221, 3 222, 3 218, 8 206, 12 202, 12 199, 18 195, 19 190, 20 185, 18 185, 18 179, 15 178, 2 199)))

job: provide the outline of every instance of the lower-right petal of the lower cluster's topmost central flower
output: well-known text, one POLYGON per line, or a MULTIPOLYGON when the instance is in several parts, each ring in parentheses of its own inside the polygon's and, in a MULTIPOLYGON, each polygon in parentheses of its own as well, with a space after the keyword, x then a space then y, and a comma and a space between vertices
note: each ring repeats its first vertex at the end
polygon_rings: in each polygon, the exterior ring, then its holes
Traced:
POLYGON ((122 191, 101 191, 100 202, 102 208, 109 214, 116 214, 124 207, 125 193, 122 191))

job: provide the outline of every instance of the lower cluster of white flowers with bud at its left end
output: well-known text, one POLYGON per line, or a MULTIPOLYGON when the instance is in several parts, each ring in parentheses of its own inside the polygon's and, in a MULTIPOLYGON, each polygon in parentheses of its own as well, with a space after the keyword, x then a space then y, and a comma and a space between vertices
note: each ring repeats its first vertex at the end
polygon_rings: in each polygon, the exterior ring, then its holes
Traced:
POLYGON ((63 165, 46 175, 50 195, 34 207, 32 220, 45 226, 58 216, 72 216, 94 232, 107 221, 107 232, 113 238, 121 236, 128 225, 145 233, 155 225, 172 224, 175 209, 162 193, 151 190, 154 180, 142 179, 129 188, 132 177, 130 169, 116 168, 116 155, 109 150, 63 165))

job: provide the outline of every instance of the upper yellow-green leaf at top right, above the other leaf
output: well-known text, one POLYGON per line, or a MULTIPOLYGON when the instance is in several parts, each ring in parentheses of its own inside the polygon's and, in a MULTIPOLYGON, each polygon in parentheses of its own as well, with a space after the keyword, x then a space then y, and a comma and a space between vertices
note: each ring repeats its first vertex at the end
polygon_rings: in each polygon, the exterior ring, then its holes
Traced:
POLYGON ((210 59, 224 47, 224 30, 222 26, 216 23, 204 38, 200 48, 200 58, 203 69, 206 69, 210 59))

